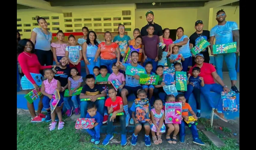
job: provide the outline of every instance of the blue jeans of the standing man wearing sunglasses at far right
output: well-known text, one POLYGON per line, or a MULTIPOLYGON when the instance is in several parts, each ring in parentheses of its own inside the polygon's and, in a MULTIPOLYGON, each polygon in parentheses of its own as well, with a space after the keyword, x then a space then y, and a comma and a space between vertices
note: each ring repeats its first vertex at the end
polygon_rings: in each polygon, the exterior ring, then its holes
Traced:
POLYGON ((221 79, 223 79, 223 76, 222 76, 223 59, 225 60, 225 62, 227 64, 230 80, 237 80, 236 53, 232 52, 232 53, 226 53, 226 54, 218 54, 218 55, 214 56, 216 71, 221 79))

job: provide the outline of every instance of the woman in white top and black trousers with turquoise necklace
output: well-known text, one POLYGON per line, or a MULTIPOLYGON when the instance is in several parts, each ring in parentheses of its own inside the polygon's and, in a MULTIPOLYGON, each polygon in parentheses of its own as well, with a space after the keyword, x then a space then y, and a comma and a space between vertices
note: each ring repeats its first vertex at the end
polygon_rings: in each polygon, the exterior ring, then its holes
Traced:
MULTIPOLYGON (((51 50, 52 33, 47 30, 47 22, 44 18, 36 16, 39 28, 34 28, 30 40, 35 44, 36 55, 42 66, 53 64, 51 50)), ((42 74, 42 72, 41 72, 42 74)))

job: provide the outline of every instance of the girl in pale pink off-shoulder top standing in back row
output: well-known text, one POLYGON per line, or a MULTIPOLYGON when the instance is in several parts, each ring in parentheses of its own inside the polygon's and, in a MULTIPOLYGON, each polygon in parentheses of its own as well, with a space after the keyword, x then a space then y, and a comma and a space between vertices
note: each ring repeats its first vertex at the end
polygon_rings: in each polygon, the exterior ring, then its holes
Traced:
POLYGON ((56 62, 57 65, 60 65, 60 60, 63 56, 65 56, 65 49, 67 47, 67 42, 63 41, 64 40, 64 33, 62 30, 59 30, 56 35, 58 41, 55 43, 52 43, 52 53, 53 53, 53 58, 56 62))

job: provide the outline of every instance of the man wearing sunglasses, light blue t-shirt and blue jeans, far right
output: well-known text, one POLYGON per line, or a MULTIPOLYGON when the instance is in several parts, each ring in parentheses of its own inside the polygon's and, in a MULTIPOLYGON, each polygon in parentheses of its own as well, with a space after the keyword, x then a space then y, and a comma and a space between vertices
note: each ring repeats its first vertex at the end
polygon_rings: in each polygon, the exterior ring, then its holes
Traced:
POLYGON ((210 49, 211 55, 214 55, 215 66, 218 75, 223 79, 222 75, 222 65, 223 60, 225 60, 228 70, 229 77, 231 80, 231 89, 236 93, 239 93, 236 87, 236 54, 223 53, 223 54, 213 54, 213 44, 214 38, 216 38, 215 45, 228 44, 236 42, 236 53, 239 52, 239 30, 236 22, 226 21, 226 13, 223 9, 219 10, 216 15, 216 20, 218 24, 214 26, 210 31, 210 49), (234 41, 233 41, 234 36, 234 41))

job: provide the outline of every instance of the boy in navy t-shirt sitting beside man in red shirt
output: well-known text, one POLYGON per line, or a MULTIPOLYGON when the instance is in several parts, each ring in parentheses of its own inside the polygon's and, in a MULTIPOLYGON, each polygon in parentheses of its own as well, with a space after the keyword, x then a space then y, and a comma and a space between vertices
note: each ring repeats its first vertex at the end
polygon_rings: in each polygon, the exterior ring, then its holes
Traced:
POLYGON ((185 92, 185 98, 186 98, 186 103, 189 103, 189 96, 194 93, 195 96, 195 102, 196 102, 196 117, 200 118, 201 117, 201 100, 200 100, 200 93, 201 93, 201 86, 204 86, 204 79, 202 77, 199 77, 198 75, 200 74, 200 68, 199 67, 194 67, 192 69, 192 76, 188 74, 188 88, 187 91, 185 92))

